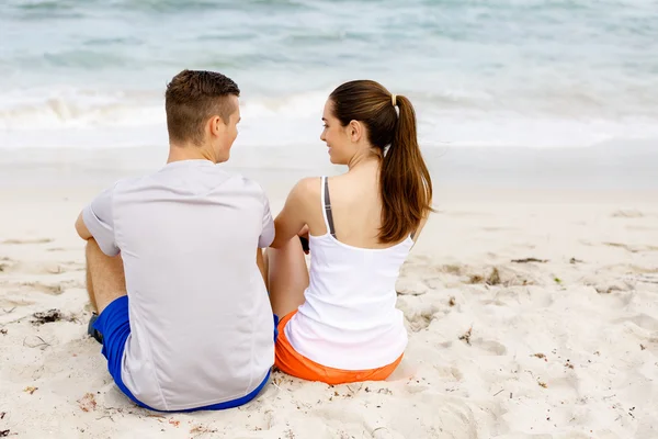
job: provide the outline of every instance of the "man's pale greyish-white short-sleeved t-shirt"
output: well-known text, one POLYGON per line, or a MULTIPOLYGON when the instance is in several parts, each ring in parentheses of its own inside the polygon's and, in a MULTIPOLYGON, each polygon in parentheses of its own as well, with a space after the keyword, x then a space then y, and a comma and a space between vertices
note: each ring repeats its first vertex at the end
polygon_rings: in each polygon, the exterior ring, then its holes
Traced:
POLYGON ((258 387, 274 363, 274 320, 256 252, 274 224, 257 183, 207 160, 175 161, 117 182, 83 221, 124 261, 122 380, 137 399, 181 410, 258 387))

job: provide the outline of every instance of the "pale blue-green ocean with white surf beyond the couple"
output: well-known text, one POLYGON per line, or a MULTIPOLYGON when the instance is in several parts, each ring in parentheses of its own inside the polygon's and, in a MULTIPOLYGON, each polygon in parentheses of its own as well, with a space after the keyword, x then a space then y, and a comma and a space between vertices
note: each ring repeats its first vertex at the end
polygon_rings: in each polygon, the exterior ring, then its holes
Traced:
POLYGON ((167 145, 184 68, 238 82, 247 147, 320 145, 328 93, 367 78, 423 148, 658 148, 655 0, 3 0, 0 148, 167 145))

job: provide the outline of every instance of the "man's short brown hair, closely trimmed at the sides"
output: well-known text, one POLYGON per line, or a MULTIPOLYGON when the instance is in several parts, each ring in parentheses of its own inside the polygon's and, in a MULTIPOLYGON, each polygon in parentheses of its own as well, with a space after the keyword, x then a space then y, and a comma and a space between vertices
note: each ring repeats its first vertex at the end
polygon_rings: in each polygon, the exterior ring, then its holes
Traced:
POLYGON ((169 139, 201 145, 209 117, 218 115, 227 124, 236 111, 231 94, 240 95, 238 85, 215 71, 183 70, 174 76, 164 93, 169 139))

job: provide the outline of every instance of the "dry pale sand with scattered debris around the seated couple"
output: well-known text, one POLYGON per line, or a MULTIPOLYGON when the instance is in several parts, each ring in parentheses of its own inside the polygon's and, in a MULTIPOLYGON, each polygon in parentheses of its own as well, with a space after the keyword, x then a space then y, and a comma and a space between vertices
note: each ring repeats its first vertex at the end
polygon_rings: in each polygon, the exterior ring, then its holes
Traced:
MULTIPOLYGON (((0 431, 658 437, 656 192, 444 190, 399 281, 410 342, 389 381, 331 387, 276 372, 243 407, 158 415, 120 393, 86 336, 83 245, 72 223, 97 185, 0 194, 0 431), (511 262, 530 257, 547 261, 511 262), (32 323, 50 308, 66 320, 32 323)), ((271 195, 276 209, 282 193, 271 195)))

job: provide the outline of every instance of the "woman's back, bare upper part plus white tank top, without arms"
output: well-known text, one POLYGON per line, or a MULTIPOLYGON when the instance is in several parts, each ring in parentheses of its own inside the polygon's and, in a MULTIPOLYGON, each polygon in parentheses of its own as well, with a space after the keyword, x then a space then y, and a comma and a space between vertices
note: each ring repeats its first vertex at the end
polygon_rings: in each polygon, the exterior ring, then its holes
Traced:
POLYGON ((359 176, 344 177, 318 182, 315 207, 322 212, 322 224, 309 224, 306 301, 286 326, 286 336, 315 362, 367 370, 395 361, 407 346, 395 283, 413 241, 407 237, 382 246, 377 188, 359 176))

